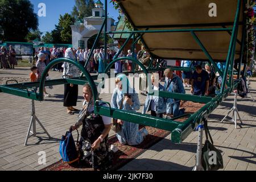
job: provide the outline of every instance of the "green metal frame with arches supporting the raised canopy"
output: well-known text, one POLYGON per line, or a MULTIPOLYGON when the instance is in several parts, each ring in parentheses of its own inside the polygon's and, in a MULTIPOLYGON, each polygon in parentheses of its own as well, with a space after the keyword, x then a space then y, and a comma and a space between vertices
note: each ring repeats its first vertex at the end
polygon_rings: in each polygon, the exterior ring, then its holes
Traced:
MULTIPOLYGON (((94 80, 97 80, 97 76, 90 76, 89 72, 86 71, 85 67, 82 67, 80 63, 77 63, 76 61, 70 60, 70 59, 56 59, 52 61, 49 65, 47 65, 46 70, 42 74, 42 78, 40 82, 34 82, 34 83, 23 83, 23 84, 11 84, 11 85, 0 85, 0 92, 4 93, 9 93, 9 94, 14 94, 15 96, 20 96, 20 97, 25 97, 25 98, 30 98, 31 100, 38 100, 38 101, 43 101, 43 88, 44 86, 48 85, 60 85, 60 84, 67 84, 67 83, 73 83, 73 84, 78 84, 78 85, 84 85, 85 83, 89 83, 90 86, 92 87, 93 91, 93 100, 94 100, 94 106, 95 106, 95 113, 96 114, 101 114, 105 115, 107 117, 112 117, 112 118, 117 118, 117 119, 123 119, 125 121, 129 122, 134 122, 134 123, 139 123, 142 125, 146 126, 152 126, 156 127, 159 129, 163 130, 168 130, 172 132, 171 139, 172 142, 175 143, 181 143, 193 130, 196 129, 197 125, 202 121, 202 119, 207 118, 210 113, 216 107, 225 100, 225 98, 228 96, 230 92, 234 88, 236 88, 237 84, 239 81, 233 82, 233 64, 234 64, 234 57, 235 57, 235 52, 236 52, 236 43, 237 43, 237 34, 238 34, 238 25, 241 24, 241 22, 238 21, 239 15, 240 15, 240 7, 241 7, 241 0, 238 0, 238 6, 237 6, 237 12, 236 12, 236 17, 234 19, 234 22, 232 23, 222 23, 222 26, 230 26, 233 24, 233 27, 231 28, 189 28, 189 29, 175 29, 175 30, 148 30, 148 28, 153 28, 153 27, 143 27, 146 28, 146 30, 138 30, 138 28, 142 27, 135 27, 134 23, 131 21, 129 15, 127 15, 126 11, 123 11, 126 15, 126 17, 130 20, 131 24, 134 26, 134 31, 107 31, 108 27, 108 11, 107 11, 107 4, 108 2, 105 0, 105 19, 104 23, 101 26, 100 32, 98 32, 96 41, 94 42, 92 51, 90 52, 90 55, 88 57, 88 60, 86 60, 86 65, 89 63, 89 59, 92 56, 93 50, 96 48, 96 44, 98 40, 100 39, 101 32, 103 28, 105 27, 104 30, 104 38, 105 38, 105 49, 106 49, 106 36, 108 34, 130 34, 129 39, 126 40, 125 44, 119 49, 118 53, 121 53, 123 48, 127 45, 129 40, 132 38, 133 39, 133 50, 135 43, 138 42, 138 40, 141 39, 142 43, 148 49, 146 43, 143 40, 143 35, 148 34, 148 33, 170 33, 170 32, 191 32, 191 35, 193 38, 196 40, 196 43, 199 44, 201 47, 202 51, 205 53, 205 55, 208 57, 208 60, 210 63, 213 64, 213 67, 220 73, 221 77, 223 78, 222 82, 222 87, 221 87, 221 94, 214 98, 210 97, 200 97, 200 96, 191 96, 187 94, 177 94, 177 93, 168 93, 168 92, 150 92, 150 94, 159 94, 160 97, 165 97, 165 98, 176 98, 180 100, 187 100, 187 101, 193 101, 193 102, 200 102, 205 104, 200 110, 198 110, 194 114, 187 114, 183 115, 181 117, 189 117, 187 120, 184 122, 178 122, 176 119, 179 119, 180 117, 176 117, 173 119, 163 119, 163 118, 156 118, 152 117, 151 115, 147 114, 141 114, 141 113, 133 113, 130 111, 126 110, 119 110, 119 109, 113 109, 110 108, 110 104, 108 102, 104 101, 98 101, 98 92, 96 88, 96 84, 94 80), (203 43, 201 43, 200 39, 196 36, 195 32, 202 32, 202 31, 226 31, 230 32, 232 31, 231 35, 231 40, 230 40, 230 46, 229 46, 229 51, 228 51, 228 56, 226 59, 226 69, 224 73, 222 73, 216 65, 217 60, 213 60, 212 57, 210 56, 209 52, 207 49, 204 47, 203 43), (135 38, 136 35, 136 38, 135 38), (63 78, 63 79, 57 79, 57 80, 46 80, 47 73, 49 69, 53 67, 53 65, 61 63, 61 62, 67 62, 70 64, 75 65, 82 71, 82 75, 79 78, 63 78), (229 70, 229 65, 231 65, 232 70, 229 70), (82 77, 85 75, 85 77, 82 77), (227 82, 228 88, 225 89, 226 85, 226 78, 230 77, 229 81, 227 82), (34 86, 39 86, 39 93, 36 93, 35 90, 32 88, 34 86), (101 102, 104 102, 107 104, 109 107, 102 106, 100 105, 101 102)), ((121 9, 123 9, 122 5, 121 9)), ((244 7, 243 7, 244 8, 244 7)), ((190 24, 188 27, 203 27, 206 26, 205 24, 190 24)), ((216 26, 216 24, 209 24, 208 26, 216 26)), ((158 26, 158 28, 167 28, 167 27, 175 27, 175 26, 158 26)), ((179 26, 176 26, 179 28, 179 26)), ((180 26, 180 27, 186 27, 186 26, 180 26)), ((240 69, 241 69, 241 62, 242 62, 242 52, 243 52, 243 45, 245 44, 245 25, 243 24, 243 38, 242 38, 242 47, 241 47, 241 56, 240 56, 240 69)), ((131 57, 120 57, 117 58, 118 54, 114 57, 114 60, 108 64, 108 66, 105 69, 105 73, 110 75, 109 70, 112 67, 114 63, 116 63, 119 60, 131 60, 133 61, 133 64, 138 64, 141 66, 142 71, 134 71, 132 73, 150 73, 150 72, 155 72, 155 71, 162 71, 166 68, 159 68, 159 64, 156 65, 156 68, 152 68, 151 65, 148 69, 144 67, 144 65, 138 61, 137 59, 131 58, 131 57)), ((154 54, 151 53, 152 57, 159 58, 158 56, 155 56, 154 54)), ((164 59, 164 57, 162 57, 164 59)), ((106 53, 105 53, 105 63, 106 63, 106 53)), ((177 71, 191 71, 192 68, 183 68, 183 67, 169 67, 173 70, 177 71)), ((239 70, 240 71, 240 70, 239 70)), ((125 72, 126 75, 129 74, 129 72, 125 72)), ((238 72, 238 78, 240 77, 240 72, 238 72)), ((148 80, 148 79, 147 79, 148 80)))

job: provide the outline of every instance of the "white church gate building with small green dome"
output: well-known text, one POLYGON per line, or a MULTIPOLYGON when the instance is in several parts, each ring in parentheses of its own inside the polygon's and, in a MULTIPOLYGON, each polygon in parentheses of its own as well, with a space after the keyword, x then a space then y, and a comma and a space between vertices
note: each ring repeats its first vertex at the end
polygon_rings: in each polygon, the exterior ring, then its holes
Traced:
MULTIPOLYGON (((95 3, 94 9, 92 9, 92 16, 85 17, 84 22, 77 21, 75 25, 72 25, 72 44, 74 48, 81 47, 82 49, 87 47, 88 40, 98 34, 102 23, 105 19, 105 10, 103 9, 103 3, 98 0, 95 3)), ((115 20, 108 18, 108 30, 115 30, 115 20)), ((102 33, 104 32, 104 29, 102 33)))

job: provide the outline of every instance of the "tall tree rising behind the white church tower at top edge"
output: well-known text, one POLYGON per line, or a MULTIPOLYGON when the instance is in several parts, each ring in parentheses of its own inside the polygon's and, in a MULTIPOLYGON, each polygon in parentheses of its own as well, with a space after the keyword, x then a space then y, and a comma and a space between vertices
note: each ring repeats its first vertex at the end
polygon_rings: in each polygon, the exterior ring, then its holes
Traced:
POLYGON ((77 19, 83 19, 87 16, 92 16, 92 9, 94 8, 93 0, 75 0, 72 16, 77 19))

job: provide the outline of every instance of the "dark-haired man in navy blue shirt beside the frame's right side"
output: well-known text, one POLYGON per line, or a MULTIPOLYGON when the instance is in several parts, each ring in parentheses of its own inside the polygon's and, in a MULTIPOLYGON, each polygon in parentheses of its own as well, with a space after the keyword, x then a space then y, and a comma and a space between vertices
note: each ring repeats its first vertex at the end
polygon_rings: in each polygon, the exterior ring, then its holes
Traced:
POLYGON ((192 75, 191 93, 196 96, 208 96, 209 80, 207 71, 203 70, 201 65, 197 65, 192 75))

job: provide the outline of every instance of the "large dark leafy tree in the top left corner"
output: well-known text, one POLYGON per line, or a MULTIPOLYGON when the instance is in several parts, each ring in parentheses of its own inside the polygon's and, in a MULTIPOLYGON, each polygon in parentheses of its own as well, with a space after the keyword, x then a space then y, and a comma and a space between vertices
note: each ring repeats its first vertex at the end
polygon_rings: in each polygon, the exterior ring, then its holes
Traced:
POLYGON ((28 0, 0 0, 0 39, 25 42, 28 32, 38 28, 38 16, 28 0))

